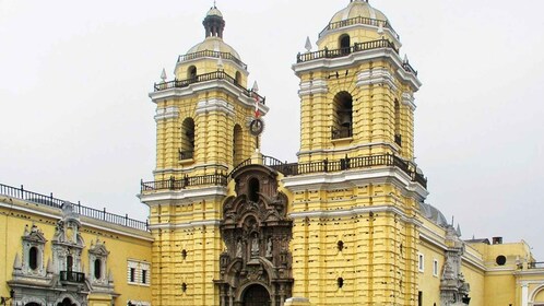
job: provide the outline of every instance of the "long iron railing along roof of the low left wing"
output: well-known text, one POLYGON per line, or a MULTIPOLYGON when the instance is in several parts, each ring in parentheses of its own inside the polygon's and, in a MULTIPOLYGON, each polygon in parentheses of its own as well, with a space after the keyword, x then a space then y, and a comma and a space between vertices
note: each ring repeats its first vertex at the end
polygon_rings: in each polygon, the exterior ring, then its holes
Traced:
MULTIPOLYGON (((40 195, 36 193, 33 191, 25 190, 23 186, 20 188, 16 187, 11 187, 8 185, 0 184, 0 195, 21 199, 24 201, 33 202, 33 203, 38 203, 56 209, 62 209, 62 205, 66 202, 66 200, 61 200, 58 198, 55 198, 52 193, 49 196, 46 195, 40 195)), ((122 225, 135 229, 141 229, 141 231, 147 231, 147 222, 142 222, 139 220, 130 219, 128 214, 126 215, 118 215, 114 214, 110 212, 106 212, 106 209, 104 210, 97 210, 82 205, 80 202, 76 204, 73 203, 73 210, 74 212, 79 213, 80 215, 100 220, 100 221, 106 221, 109 223, 114 223, 117 225, 122 225)))

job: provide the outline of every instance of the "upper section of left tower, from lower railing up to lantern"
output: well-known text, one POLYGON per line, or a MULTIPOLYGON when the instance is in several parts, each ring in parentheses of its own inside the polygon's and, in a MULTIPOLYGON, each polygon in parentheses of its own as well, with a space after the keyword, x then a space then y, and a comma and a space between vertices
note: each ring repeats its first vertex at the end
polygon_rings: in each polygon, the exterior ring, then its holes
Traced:
POLYGON ((227 174, 257 148, 248 129, 256 103, 260 114, 268 111, 264 98, 248 90, 247 64, 223 40, 216 7, 203 25, 205 39, 178 57, 174 80, 163 73, 150 94, 157 105, 157 181, 227 174))

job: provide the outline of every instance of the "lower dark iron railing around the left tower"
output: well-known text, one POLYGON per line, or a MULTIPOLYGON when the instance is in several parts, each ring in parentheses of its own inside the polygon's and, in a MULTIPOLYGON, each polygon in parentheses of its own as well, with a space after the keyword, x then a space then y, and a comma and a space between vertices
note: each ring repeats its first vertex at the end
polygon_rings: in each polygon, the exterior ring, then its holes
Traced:
POLYGON ((164 180, 153 180, 141 183, 141 191, 155 191, 155 190, 180 190, 187 187, 194 186, 226 186, 227 177, 223 174, 212 174, 202 176, 185 176, 184 178, 164 180))

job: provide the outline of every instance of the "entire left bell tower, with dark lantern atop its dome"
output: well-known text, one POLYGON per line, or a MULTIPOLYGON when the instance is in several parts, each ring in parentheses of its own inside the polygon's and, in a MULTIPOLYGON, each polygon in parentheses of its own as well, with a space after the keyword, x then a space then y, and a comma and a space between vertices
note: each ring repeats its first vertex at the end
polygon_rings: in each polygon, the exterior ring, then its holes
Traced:
MULTIPOLYGON (((156 168, 142 181, 150 207, 153 305, 218 305, 222 202, 227 174, 258 145, 250 130, 264 98, 248 90, 247 64, 223 40, 225 20, 213 7, 205 38, 178 57, 174 76, 154 84, 156 168)), ((262 121, 261 121, 262 122, 262 121)))

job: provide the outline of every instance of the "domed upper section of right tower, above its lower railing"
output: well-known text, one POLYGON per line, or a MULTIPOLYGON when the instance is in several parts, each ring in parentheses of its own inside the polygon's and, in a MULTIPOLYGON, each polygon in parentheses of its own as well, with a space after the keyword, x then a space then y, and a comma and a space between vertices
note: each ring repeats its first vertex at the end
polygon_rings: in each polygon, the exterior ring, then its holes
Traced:
POLYGON ((300 79, 299 162, 395 154, 414 157, 414 93, 421 82, 391 23, 353 0, 293 66, 300 79))

